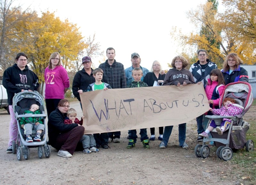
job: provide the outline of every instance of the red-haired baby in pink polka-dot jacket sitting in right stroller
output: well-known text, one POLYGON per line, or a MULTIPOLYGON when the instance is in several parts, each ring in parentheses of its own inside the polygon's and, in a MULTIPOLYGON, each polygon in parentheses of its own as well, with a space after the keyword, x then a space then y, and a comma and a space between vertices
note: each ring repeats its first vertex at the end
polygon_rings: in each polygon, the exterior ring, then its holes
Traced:
MULTIPOLYGON (((223 100, 223 107, 220 109, 212 109, 209 108, 209 110, 212 112, 212 114, 216 115, 223 115, 223 116, 236 116, 239 114, 242 114, 244 107, 235 104, 236 100, 232 98, 225 98, 223 100)), ((220 127, 217 127, 214 120, 210 123, 208 128, 199 134, 201 137, 209 137, 209 132, 211 132, 214 128, 216 128, 216 131, 219 135, 222 135, 223 132, 227 129, 227 127, 230 125, 231 120, 228 118, 223 118, 222 122, 220 123, 220 127)))

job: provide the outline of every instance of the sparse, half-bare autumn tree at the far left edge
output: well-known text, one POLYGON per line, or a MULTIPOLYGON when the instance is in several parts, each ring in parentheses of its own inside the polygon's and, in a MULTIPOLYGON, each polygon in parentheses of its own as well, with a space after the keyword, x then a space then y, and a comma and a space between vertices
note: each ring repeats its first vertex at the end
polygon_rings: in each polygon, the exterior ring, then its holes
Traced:
MULTIPOLYGON (((0 74, 12 66, 17 50, 26 42, 20 42, 22 34, 29 34, 38 29, 32 29, 21 24, 24 21, 32 21, 37 17, 35 11, 26 9, 22 11, 21 6, 12 7, 13 0, 0 0, 0 74), (15 51, 14 51, 15 50, 15 51)), ((20 52, 20 51, 19 51, 20 52)))

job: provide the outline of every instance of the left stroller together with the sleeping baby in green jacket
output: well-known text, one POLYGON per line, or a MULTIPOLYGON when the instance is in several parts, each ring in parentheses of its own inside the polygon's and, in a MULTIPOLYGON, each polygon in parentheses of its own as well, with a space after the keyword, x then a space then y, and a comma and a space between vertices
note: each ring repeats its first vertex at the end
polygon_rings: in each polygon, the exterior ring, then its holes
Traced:
POLYGON ((46 144, 44 98, 36 91, 17 93, 13 97, 13 111, 18 124, 18 137, 12 141, 12 153, 15 154, 17 149, 18 160, 22 160, 23 156, 27 160, 30 157, 29 148, 38 147, 38 157, 42 159, 45 154, 49 158, 51 147, 46 144))

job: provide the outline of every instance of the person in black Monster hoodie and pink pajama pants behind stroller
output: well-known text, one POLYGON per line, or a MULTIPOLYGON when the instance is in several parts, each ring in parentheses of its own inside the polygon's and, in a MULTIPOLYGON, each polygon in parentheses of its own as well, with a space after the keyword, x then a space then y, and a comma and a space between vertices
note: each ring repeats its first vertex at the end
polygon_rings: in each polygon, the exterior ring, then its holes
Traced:
POLYGON ((3 75, 3 85, 7 91, 9 111, 11 115, 9 134, 10 139, 8 143, 7 153, 12 153, 12 141, 16 141, 18 125, 15 118, 15 113, 12 108, 12 98, 15 93, 28 91, 37 91, 39 87, 38 77, 36 74, 28 69, 28 57, 25 53, 18 53, 15 58, 15 64, 7 68, 3 75))

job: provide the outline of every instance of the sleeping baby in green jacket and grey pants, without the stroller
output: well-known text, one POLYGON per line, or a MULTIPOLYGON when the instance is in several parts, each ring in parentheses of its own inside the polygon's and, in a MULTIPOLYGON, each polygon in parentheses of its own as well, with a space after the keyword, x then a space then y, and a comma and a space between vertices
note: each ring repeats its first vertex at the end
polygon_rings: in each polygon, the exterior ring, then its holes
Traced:
MULTIPOLYGON (((41 114, 39 106, 37 104, 32 104, 29 110, 25 110, 24 114, 41 114)), ((32 123, 35 123, 34 129, 36 130, 36 136, 34 141, 41 141, 41 134, 44 131, 44 123, 41 117, 22 117, 20 119, 20 127, 24 129, 24 134, 26 135, 26 142, 33 142, 32 135, 32 123)))

